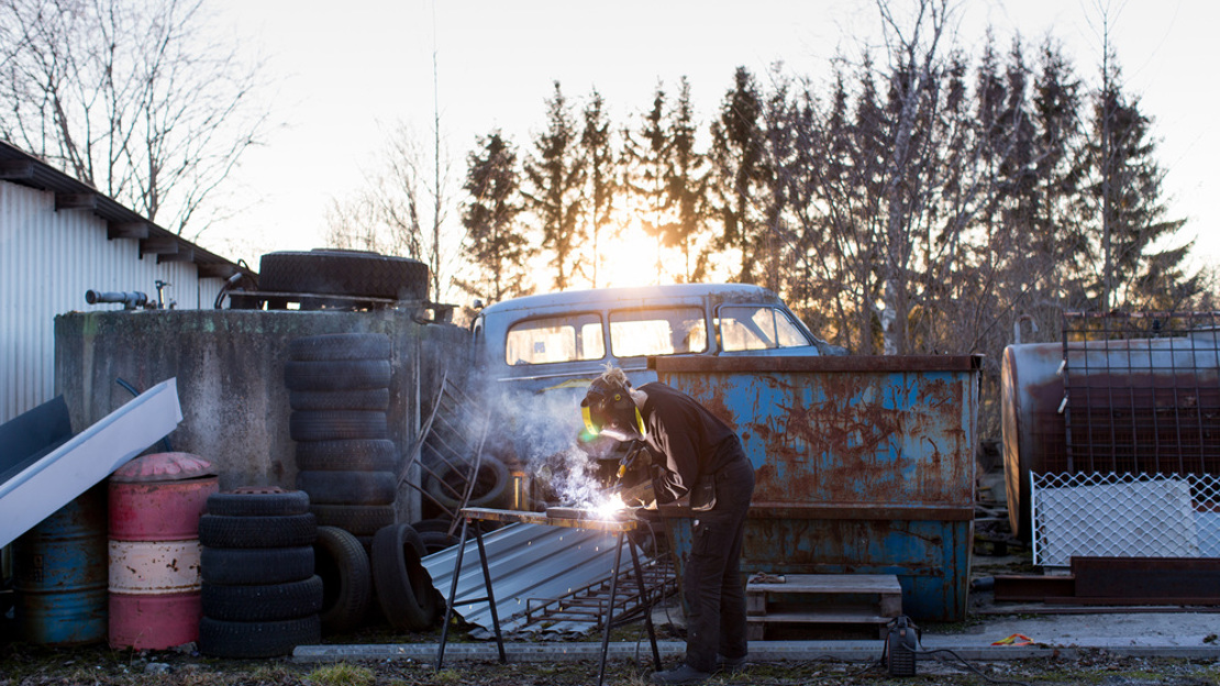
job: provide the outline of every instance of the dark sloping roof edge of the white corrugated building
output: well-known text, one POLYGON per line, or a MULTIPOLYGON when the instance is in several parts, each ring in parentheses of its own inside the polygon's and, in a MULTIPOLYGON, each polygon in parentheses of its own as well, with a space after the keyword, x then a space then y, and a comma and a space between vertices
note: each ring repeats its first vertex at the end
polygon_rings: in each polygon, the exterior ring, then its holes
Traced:
POLYGON ((254 272, 162 228, 96 188, 78 181, 45 161, 0 140, 0 181, 55 194, 57 209, 90 210, 106 221, 111 238, 140 242, 140 255, 155 254, 157 261, 193 262, 200 278, 228 278, 237 272, 254 272))

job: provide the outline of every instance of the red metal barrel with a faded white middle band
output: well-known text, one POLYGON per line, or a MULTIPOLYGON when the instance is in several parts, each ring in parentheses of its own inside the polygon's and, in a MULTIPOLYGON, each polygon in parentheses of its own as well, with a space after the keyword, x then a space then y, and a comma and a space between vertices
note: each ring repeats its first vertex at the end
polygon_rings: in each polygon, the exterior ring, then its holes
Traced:
POLYGON ((110 646, 165 649, 199 638, 199 516, 218 489, 189 453, 134 459, 110 477, 110 646))

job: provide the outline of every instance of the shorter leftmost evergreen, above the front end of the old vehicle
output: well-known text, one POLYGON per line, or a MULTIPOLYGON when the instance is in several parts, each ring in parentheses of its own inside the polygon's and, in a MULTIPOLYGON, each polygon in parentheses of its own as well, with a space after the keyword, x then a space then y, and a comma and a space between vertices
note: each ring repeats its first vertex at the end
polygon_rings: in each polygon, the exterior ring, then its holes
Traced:
POLYGON ((517 225, 521 208, 516 150, 499 131, 479 138, 478 145, 466 157, 464 188, 470 199, 461 215, 465 248, 478 276, 461 286, 495 303, 526 294, 526 261, 533 250, 517 225))

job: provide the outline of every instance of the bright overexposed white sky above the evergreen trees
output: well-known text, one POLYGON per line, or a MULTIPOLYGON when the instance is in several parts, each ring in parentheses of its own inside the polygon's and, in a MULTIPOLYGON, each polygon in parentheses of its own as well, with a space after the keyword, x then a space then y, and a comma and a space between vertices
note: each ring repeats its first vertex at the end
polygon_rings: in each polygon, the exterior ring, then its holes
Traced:
MULTIPOLYGON (((1170 217, 1188 218, 1202 262, 1220 264, 1220 135, 1211 120, 1220 95, 1214 28, 1220 4, 1208 0, 964 0, 958 45, 977 49, 986 26, 1006 49, 1019 31, 1036 48, 1049 32, 1076 73, 1096 83, 1100 11, 1128 93, 1154 120, 1168 177, 1170 217)), ((523 154, 545 125, 553 82, 577 106, 594 87, 616 127, 651 101, 659 81, 680 77, 706 125, 737 66, 765 78, 782 61, 820 81, 832 56, 878 44, 869 0, 217 0, 220 18, 267 60, 272 118, 283 122, 238 171, 245 211, 210 228, 204 247, 257 269, 273 250, 323 244, 325 212, 377 165, 396 122, 431 142, 433 103, 461 184, 466 154, 494 128, 523 154), (436 55, 436 89, 433 88, 436 55)))

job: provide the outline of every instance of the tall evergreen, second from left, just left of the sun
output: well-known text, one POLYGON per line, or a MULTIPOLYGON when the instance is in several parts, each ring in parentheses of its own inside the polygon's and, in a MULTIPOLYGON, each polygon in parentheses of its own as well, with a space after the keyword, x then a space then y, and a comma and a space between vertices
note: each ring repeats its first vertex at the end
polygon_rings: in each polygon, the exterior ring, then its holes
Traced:
POLYGON ((580 216, 584 165, 581 162, 576 123, 559 82, 547 101, 547 131, 534 140, 525 162, 528 209, 542 232, 542 247, 551 253, 554 287, 566 291, 587 259, 581 250, 580 216))

